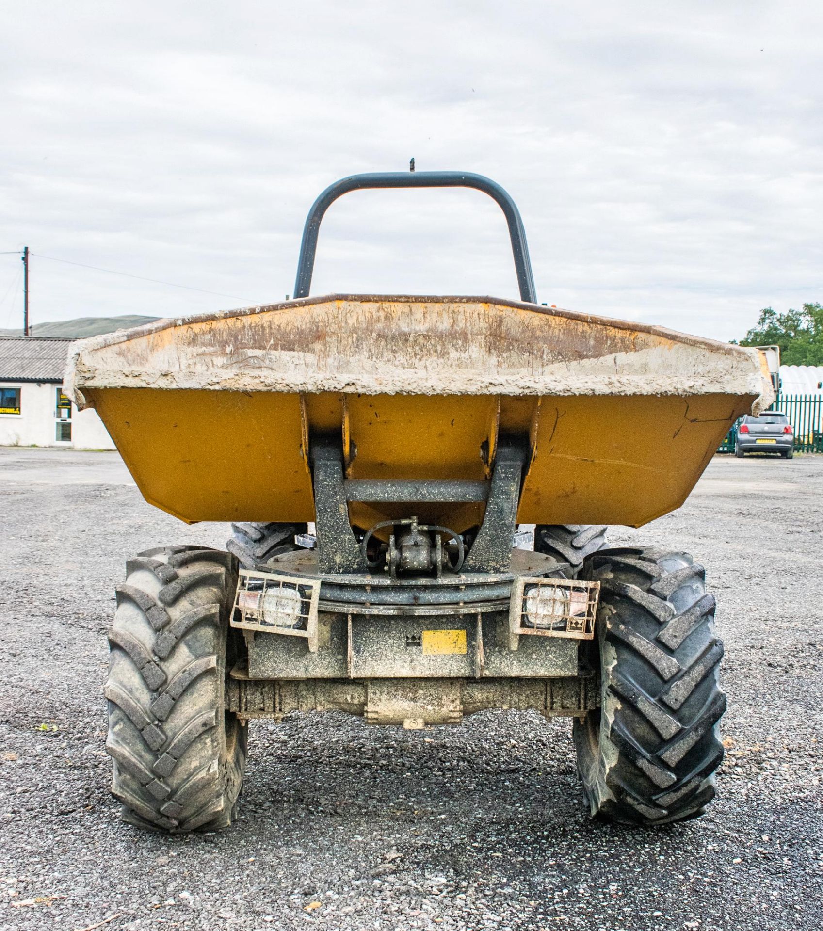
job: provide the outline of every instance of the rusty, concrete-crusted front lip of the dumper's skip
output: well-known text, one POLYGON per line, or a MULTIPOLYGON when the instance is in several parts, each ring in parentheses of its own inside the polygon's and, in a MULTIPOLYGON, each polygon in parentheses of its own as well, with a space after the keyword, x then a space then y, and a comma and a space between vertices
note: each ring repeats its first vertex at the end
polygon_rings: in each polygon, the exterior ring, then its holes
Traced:
POLYGON ((494 298, 331 295, 159 320, 72 346, 65 390, 420 395, 751 395, 753 349, 494 298))

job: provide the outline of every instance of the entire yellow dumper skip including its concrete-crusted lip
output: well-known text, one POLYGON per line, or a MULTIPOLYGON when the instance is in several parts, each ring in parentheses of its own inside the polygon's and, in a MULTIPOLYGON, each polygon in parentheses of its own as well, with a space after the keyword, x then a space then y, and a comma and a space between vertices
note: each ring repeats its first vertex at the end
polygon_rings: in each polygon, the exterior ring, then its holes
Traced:
MULTIPOLYGON (((333 295, 74 344, 143 495, 186 521, 314 518, 310 438, 350 479, 485 479, 528 438, 524 523, 639 526, 680 506, 735 418, 771 401, 753 349, 536 304, 333 295)), ((355 526, 397 517, 350 506, 355 526)), ((426 504, 457 531, 483 505, 426 504)), ((408 506, 405 506, 408 510, 408 506)))

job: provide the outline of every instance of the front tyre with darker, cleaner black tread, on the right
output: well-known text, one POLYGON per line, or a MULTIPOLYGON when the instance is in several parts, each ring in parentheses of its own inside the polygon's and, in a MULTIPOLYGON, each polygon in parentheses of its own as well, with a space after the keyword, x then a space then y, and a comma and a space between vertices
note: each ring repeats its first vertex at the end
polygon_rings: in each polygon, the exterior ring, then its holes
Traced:
POLYGON ((697 817, 715 795, 722 641, 702 566, 686 553, 602 550, 592 664, 600 708, 575 720, 577 768, 592 816, 652 826, 697 817))

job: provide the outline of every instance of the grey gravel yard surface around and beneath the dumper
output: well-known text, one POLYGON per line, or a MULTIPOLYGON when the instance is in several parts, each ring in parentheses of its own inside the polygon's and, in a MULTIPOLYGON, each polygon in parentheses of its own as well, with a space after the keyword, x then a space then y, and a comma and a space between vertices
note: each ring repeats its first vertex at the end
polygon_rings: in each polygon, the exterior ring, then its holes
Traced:
POLYGON ((726 642, 720 798, 663 830, 590 822, 571 728, 344 715, 252 724, 241 816, 122 824, 103 752, 105 630, 129 554, 222 546, 146 505, 115 453, 0 449, 0 928, 819 929, 823 458, 715 459, 613 541, 708 567, 726 642))

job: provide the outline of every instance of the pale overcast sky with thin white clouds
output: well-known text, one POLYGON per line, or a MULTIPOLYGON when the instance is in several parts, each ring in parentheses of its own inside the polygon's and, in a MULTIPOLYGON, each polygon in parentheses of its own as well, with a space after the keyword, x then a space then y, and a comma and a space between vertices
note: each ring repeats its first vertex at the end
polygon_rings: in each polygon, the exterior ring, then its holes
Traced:
MULTIPOLYGON (((818 0, 0 9, 0 251, 35 253, 34 322, 282 300, 319 191, 412 155, 506 187, 548 304, 726 340, 823 301, 818 0)), ((0 327, 20 264, 0 255, 0 327)), ((503 215, 347 195, 331 291, 517 297, 503 215)))

